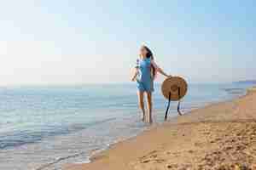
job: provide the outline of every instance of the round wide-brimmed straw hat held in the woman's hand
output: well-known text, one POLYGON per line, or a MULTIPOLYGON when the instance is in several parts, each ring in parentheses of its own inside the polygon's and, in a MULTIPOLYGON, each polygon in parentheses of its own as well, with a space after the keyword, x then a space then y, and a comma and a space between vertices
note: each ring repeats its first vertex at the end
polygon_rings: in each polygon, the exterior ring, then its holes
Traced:
POLYGON ((171 93, 170 99, 172 101, 180 100, 187 93, 188 84, 182 77, 170 77, 162 84, 162 94, 166 99, 169 99, 169 94, 171 93), (180 93, 178 95, 178 88, 180 93))

